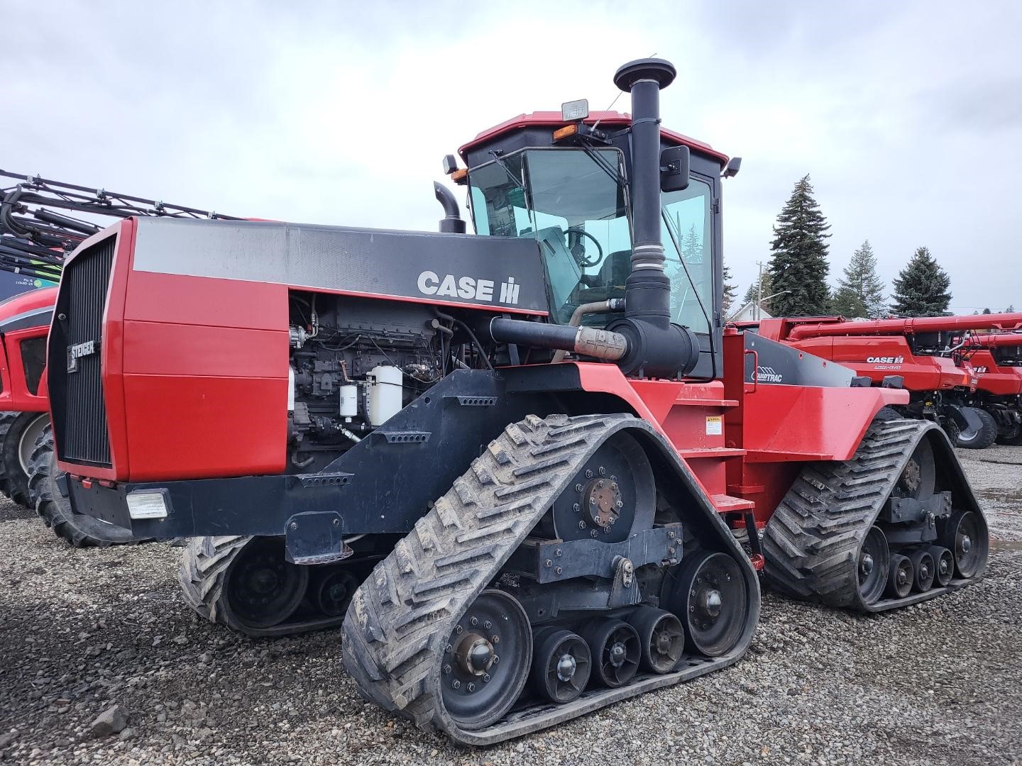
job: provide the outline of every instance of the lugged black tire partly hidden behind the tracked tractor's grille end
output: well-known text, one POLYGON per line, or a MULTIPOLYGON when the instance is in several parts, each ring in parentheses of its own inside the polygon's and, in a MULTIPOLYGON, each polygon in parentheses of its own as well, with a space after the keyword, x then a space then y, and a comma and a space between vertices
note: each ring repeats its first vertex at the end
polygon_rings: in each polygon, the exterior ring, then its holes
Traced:
POLYGON ((107 524, 84 514, 76 514, 71 500, 60 494, 57 480, 63 471, 53 451, 53 430, 49 424, 36 441, 30 466, 29 491, 36 511, 53 534, 75 547, 107 547, 142 542, 123 527, 107 524))

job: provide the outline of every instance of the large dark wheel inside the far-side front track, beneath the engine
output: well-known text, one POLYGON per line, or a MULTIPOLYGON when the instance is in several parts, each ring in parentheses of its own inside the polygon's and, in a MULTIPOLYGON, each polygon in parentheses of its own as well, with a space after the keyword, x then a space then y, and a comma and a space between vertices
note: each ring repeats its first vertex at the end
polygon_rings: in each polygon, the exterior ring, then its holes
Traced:
POLYGON ((269 628, 290 617, 309 586, 309 568, 284 559, 279 537, 253 537, 231 563, 224 587, 235 620, 269 628))

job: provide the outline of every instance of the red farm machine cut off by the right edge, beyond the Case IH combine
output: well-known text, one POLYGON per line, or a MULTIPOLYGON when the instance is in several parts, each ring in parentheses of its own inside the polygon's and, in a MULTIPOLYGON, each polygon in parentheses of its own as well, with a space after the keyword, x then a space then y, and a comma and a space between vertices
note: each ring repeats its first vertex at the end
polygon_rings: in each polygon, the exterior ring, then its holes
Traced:
POLYGON ((973 333, 964 351, 979 381, 970 404, 997 425, 997 443, 1022 445, 1022 333, 973 333))

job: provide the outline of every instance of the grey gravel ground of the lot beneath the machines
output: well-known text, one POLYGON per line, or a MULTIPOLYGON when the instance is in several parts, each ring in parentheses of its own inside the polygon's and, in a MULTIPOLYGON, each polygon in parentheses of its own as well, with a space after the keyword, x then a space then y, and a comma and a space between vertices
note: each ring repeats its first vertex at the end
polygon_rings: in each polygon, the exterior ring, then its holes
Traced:
POLYGON ((1020 764, 1022 448, 961 451, 986 578, 861 617, 764 594, 737 666, 486 751, 364 704, 335 632, 249 641, 193 617, 179 548, 74 550, 0 506, 0 761, 1020 764), (91 738, 111 706, 120 734, 91 738))

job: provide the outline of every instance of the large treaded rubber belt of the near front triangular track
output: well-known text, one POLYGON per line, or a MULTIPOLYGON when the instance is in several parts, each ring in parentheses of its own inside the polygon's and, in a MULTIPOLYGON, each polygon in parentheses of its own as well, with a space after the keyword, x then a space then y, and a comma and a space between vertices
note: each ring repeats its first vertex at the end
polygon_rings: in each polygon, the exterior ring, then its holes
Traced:
POLYGON ((480 730, 461 729, 445 710, 439 663, 455 623, 589 457, 624 428, 652 432, 630 415, 529 416, 490 443, 355 592, 342 628, 344 667, 367 699, 457 744, 492 745, 741 657, 744 645, 715 660, 693 659, 675 673, 588 691, 568 705, 518 711, 480 730))

